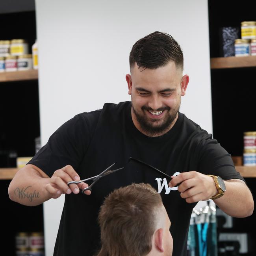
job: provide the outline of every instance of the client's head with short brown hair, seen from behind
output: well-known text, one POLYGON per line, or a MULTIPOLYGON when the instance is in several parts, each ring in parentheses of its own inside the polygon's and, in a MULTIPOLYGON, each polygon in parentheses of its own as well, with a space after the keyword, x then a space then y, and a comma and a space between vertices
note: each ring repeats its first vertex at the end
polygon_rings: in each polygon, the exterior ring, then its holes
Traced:
POLYGON ((160 194, 149 184, 115 189, 100 208, 98 256, 171 256, 171 222, 160 194))

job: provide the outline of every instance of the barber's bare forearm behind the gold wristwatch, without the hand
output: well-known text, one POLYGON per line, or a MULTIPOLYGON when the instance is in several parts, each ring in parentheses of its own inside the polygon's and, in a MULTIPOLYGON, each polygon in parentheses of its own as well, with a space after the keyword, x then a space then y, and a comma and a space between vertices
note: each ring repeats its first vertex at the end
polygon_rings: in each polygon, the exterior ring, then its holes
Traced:
POLYGON ((226 192, 223 197, 214 200, 215 204, 226 214, 243 218, 252 215, 254 202, 249 188, 243 181, 224 181, 226 192))

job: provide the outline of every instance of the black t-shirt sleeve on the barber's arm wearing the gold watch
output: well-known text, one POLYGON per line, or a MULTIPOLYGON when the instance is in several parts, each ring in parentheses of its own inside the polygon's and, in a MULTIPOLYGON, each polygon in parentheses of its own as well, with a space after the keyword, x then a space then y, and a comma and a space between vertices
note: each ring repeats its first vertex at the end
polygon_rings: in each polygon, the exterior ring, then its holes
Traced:
POLYGON ((211 136, 211 134, 205 134, 200 142, 198 171, 220 176, 223 180, 245 181, 236 171, 231 155, 211 136))

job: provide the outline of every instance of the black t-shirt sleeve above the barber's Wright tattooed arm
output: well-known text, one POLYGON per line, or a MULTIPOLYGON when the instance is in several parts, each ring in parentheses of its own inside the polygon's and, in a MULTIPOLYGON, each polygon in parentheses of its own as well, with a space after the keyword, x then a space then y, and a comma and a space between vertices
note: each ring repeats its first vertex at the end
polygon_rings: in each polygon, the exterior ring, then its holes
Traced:
POLYGON ((39 167, 48 176, 66 165, 71 165, 76 170, 89 142, 87 120, 82 114, 78 114, 59 127, 28 164, 39 167))

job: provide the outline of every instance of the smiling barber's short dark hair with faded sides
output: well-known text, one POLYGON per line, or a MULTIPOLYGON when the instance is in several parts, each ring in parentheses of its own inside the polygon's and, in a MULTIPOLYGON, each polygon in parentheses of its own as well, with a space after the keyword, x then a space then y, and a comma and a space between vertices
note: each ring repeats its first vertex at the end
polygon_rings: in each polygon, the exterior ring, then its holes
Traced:
POLYGON ((163 32, 153 32, 139 39, 130 52, 130 69, 135 63, 145 69, 157 69, 174 61, 183 70, 183 53, 175 39, 163 32))

